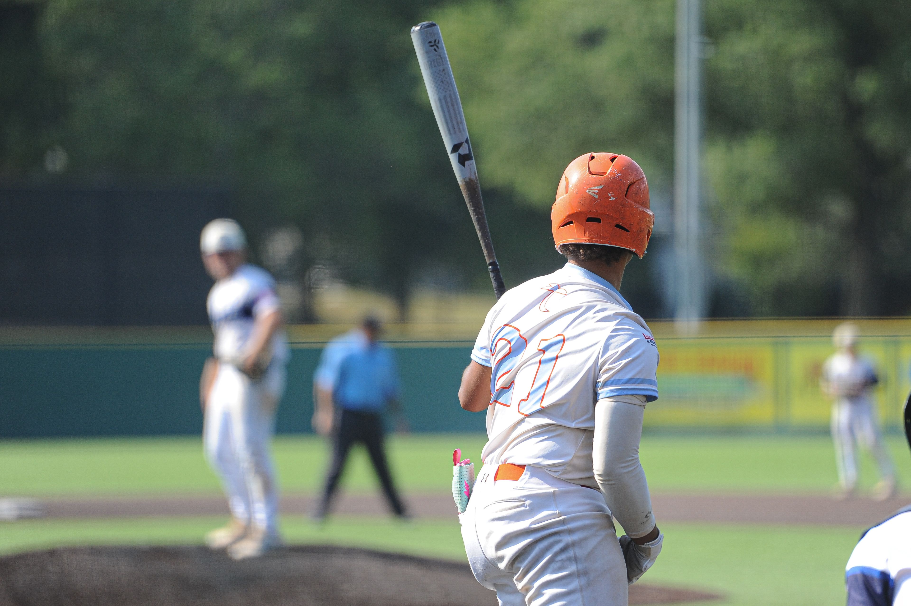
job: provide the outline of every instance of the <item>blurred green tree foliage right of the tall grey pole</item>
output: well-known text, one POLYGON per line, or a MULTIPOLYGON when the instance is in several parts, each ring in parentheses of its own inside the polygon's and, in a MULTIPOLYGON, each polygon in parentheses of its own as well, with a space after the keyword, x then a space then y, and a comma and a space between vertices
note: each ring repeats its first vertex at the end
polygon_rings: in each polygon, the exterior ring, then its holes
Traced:
POLYGON ((911 10, 713 0, 706 150, 757 311, 911 312, 911 10))

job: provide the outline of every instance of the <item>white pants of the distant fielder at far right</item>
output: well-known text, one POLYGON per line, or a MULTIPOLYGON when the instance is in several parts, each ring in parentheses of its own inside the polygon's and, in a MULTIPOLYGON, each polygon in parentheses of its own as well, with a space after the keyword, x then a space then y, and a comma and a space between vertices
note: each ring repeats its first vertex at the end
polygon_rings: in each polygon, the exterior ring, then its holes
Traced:
POLYGON ((857 447, 867 448, 876 459, 883 479, 895 477, 892 459, 879 432, 879 421, 873 406, 865 402, 835 401, 832 405, 832 440, 838 481, 843 488, 857 486, 857 447))

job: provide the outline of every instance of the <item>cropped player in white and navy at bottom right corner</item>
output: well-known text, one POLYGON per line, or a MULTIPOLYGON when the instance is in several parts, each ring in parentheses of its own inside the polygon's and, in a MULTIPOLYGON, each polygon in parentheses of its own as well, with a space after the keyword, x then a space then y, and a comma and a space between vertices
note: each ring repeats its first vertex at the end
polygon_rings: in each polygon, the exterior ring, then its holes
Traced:
MULTIPOLYGON (((911 447, 911 396, 905 403, 911 447)), ((845 571, 847 606, 911 606, 911 505, 867 530, 845 571)))

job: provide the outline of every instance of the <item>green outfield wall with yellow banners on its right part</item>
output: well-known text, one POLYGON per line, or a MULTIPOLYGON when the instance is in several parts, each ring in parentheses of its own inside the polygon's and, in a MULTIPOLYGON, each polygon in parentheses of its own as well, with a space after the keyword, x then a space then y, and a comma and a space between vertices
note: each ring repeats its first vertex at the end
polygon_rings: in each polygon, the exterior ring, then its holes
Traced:
MULTIPOLYGON (((862 324, 888 427, 899 426, 911 390, 908 324, 862 324)), ((819 375, 832 353, 833 325, 715 323, 693 337, 654 326, 660 398, 648 406, 646 425, 824 431, 830 405, 819 375)), ((292 327, 278 431, 311 431, 313 370, 325 340, 344 328, 292 327)), ((434 339, 435 332, 390 330, 408 424, 422 432, 483 431, 485 416, 462 411, 456 400, 471 341, 459 331, 434 339)), ((0 437, 199 433, 199 375, 210 346, 205 329, 0 331, 0 437)))

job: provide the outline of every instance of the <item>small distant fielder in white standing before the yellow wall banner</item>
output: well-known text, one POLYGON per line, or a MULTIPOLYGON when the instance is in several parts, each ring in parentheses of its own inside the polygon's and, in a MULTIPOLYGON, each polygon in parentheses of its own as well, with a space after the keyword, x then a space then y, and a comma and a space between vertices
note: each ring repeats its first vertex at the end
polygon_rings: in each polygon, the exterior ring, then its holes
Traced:
POLYGON ((833 398, 832 440, 838 467, 836 498, 848 498, 857 488, 857 447, 870 450, 879 466, 880 481, 874 497, 885 500, 895 494, 892 459, 879 431, 872 388, 879 383, 873 363, 857 354, 860 331, 851 322, 839 324, 832 334, 837 350, 823 365, 821 386, 833 398))

